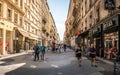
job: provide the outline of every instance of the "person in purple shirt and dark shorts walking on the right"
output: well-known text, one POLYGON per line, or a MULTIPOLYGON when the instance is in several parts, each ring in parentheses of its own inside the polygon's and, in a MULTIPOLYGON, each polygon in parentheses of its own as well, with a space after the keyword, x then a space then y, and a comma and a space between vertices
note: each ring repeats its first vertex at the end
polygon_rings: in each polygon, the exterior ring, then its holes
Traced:
POLYGON ((91 66, 97 67, 97 65, 96 65, 96 49, 94 48, 94 44, 90 45, 89 52, 90 52, 90 58, 91 58, 91 66))

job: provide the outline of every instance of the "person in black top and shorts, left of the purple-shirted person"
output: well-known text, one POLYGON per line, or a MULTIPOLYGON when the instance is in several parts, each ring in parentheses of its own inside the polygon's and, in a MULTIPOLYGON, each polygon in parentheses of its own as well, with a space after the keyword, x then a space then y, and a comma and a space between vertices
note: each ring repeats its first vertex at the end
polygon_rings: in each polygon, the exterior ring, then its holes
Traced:
POLYGON ((77 57, 78 66, 81 67, 82 50, 81 50, 81 48, 79 46, 77 46, 76 49, 75 49, 75 56, 77 57))

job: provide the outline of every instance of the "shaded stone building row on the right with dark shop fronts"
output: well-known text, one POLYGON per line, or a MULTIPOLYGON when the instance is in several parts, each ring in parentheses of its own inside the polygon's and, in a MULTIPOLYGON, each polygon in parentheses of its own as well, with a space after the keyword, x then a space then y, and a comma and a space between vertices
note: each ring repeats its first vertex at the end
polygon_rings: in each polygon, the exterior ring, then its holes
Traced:
POLYGON ((70 42, 70 39, 76 36, 76 32, 80 31, 81 45, 89 47, 90 43, 94 43, 98 56, 104 57, 104 50, 107 46, 109 49, 115 46, 120 54, 118 38, 120 9, 117 8, 120 6, 120 1, 111 1, 70 0, 65 41, 70 42), (113 3, 115 8, 106 9, 107 3, 113 3))

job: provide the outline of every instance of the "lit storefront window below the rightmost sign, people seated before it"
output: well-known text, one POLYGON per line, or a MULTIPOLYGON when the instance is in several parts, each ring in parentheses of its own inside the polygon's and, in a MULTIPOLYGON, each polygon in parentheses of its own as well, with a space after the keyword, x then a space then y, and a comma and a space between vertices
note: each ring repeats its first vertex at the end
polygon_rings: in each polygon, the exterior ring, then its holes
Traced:
POLYGON ((105 34, 105 58, 113 60, 118 52, 118 32, 105 34))

